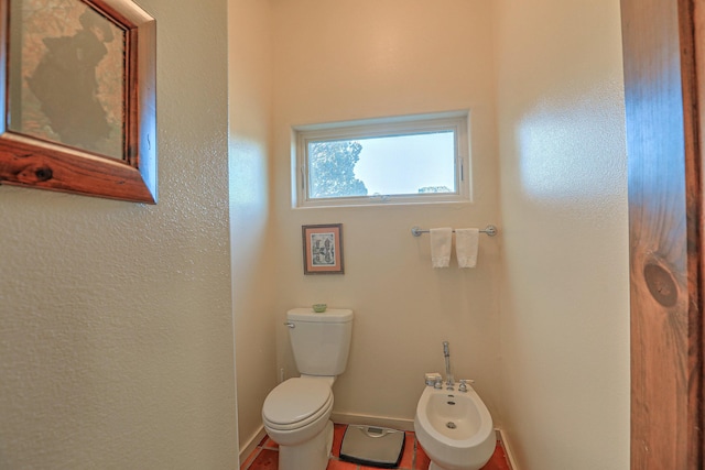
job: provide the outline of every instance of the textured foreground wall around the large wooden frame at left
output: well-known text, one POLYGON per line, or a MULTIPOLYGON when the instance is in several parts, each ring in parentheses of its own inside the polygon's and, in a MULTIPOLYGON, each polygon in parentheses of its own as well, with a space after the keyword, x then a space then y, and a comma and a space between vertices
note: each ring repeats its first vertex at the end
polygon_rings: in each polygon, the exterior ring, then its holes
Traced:
POLYGON ((0 186, 0 468, 237 468, 226 2, 158 21, 156 206, 0 186))

